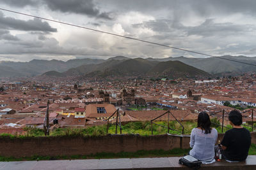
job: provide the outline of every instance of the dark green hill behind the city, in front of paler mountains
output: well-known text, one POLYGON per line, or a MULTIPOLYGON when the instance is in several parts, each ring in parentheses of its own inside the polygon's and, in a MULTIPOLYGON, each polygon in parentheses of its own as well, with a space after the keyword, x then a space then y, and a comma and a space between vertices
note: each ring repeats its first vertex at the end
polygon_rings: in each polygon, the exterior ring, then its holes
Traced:
POLYGON ((63 75, 92 76, 209 76, 200 69, 179 61, 158 62, 146 59, 107 60, 100 64, 79 66, 69 69, 63 75))

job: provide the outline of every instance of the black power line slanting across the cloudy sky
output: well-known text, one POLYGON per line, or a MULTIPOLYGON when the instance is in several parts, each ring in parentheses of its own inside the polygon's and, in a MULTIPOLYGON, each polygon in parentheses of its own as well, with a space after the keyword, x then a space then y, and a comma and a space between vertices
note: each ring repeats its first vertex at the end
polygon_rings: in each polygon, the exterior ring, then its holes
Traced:
POLYGON ((42 20, 48 20, 48 21, 51 21, 51 22, 57 22, 57 23, 60 23, 60 24, 70 25, 70 26, 72 26, 72 27, 79 27, 79 28, 82 28, 82 29, 88 29, 88 30, 90 30, 90 31, 101 32, 101 33, 109 34, 109 35, 112 35, 112 36, 118 36, 118 37, 122 37, 122 38, 133 39, 133 40, 136 40, 136 41, 141 41, 141 42, 143 42, 143 43, 150 43, 150 44, 152 44, 152 45, 164 46, 164 47, 168 47, 168 48, 173 48, 173 49, 175 49, 175 50, 182 50, 182 51, 184 51, 184 52, 196 53, 196 54, 205 55, 205 56, 208 56, 208 57, 214 57, 214 58, 223 59, 223 60, 230 60, 230 61, 233 61, 233 62, 239 62, 239 63, 241 63, 241 64, 247 64, 247 65, 250 65, 250 66, 256 66, 256 64, 250 64, 250 63, 247 63, 247 62, 242 62, 242 61, 232 60, 232 59, 225 59, 225 58, 222 58, 222 57, 217 57, 217 56, 209 55, 209 54, 207 54, 207 53, 194 52, 194 51, 191 51, 191 50, 185 50, 185 49, 183 49, 183 48, 178 48, 178 47, 174 47, 174 46, 163 45, 163 44, 160 44, 160 43, 154 43, 154 42, 151 42, 151 41, 145 41, 145 40, 143 40, 143 39, 132 38, 132 37, 129 37, 129 36, 122 36, 122 35, 114 34, 114 33, 111 33, 111 32, 99 31, 99 30, 97 30, 97 29, 92 29, 92 28, 88 28, 88 27, 83 27, 83 26, 75 25, 75 24, 69 24, 69 23, 67 23, 67 22, 60 22, 60 21, 58 21, 58 20, 51 20, 51 19, 48 19, 48 18, 38 17, 38 16, 35 16, 35 15, 29 15, 29 14, 27 14, 27 13, 20 13, 20 12, 18 12, 18 11, 6 10, 6 9, 4 9, 4 8, 0 8, 0 10, 9 11, 9 12, 12 12, 12 13, 18 13, 18 14, 20 14, 20 15, 26 15, 26 16, 28 16, 28 17, 39 18, 39 19, 42 19, 42 20))

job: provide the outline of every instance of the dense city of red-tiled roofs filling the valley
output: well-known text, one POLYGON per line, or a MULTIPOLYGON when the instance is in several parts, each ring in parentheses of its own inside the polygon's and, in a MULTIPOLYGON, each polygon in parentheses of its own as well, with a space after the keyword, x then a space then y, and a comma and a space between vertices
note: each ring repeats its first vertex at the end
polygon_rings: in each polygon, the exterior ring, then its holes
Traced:
POLYGON ((9 134, 24 134, 26 127, 43 129, 46 114, 51 131, 115 124, 116 110, 123 124, 150 121, 168 110, 173 114, 170 120, 194 121, 198 113, 207 111, 221 122, 222 111, 234 108, 248 111, 246 122, 252 120, 256 106, 256 75, 251 73, 214 80, 126 77, 67 82, 28 78, 2 80, 0 87, 0 132, 9 134))

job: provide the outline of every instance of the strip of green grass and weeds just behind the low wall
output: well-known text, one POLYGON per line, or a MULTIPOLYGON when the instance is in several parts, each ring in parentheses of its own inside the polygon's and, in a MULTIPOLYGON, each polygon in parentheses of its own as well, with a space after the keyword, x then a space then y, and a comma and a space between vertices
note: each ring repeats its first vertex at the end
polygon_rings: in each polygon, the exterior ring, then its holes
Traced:
MULTIPOLYGON (((221 126, 218 120, 212 120, 215 124, 212 124, 212 127, 221 133, 221 126)), ((168 132, 168 122, 167 121, 155 121, 151 124, 149 121, 145 122, 129 122, 122 125, 122 134, 140 134, 141 136, 150 136, 152 134, 151 128, 154 135, 166 134, 168 132), (160 126, 162 125, 162 126, 160 126), (163 127, 165 126, 165 127, 163 127)), ((196 122, 182 122, 184 126, 184 134, 190 134, 191 130, 196 127, 196 122)), ((182 126, 175 121, 169 122, 170 134, 181 134, 182 126), (174 129, 175 131, 171 130, 174 129)), ((227 125, 229 129, 232 129, 231 125, 227 125)), ((249 131, 252 131, 252 127, 244 126, 249 131)), ((228 128, 223 127, 223 132, 227 131, 228 128)), ((109 124, 108 134, 115 134, 116 126, 114 124, 109 124)), ((0 136, 9 136, 10 138, 33 138, 38 136, 44 136, 44 131, 35 127, 25 128, 26 134, 0 134, 0 136)), ((120 134, 120 128, 117 128, 117 133, 120 134)), ((99 125, 86 128, 58 128, 50 131, 50 136, 104 136, 107 134, 107 125, 99 125)))

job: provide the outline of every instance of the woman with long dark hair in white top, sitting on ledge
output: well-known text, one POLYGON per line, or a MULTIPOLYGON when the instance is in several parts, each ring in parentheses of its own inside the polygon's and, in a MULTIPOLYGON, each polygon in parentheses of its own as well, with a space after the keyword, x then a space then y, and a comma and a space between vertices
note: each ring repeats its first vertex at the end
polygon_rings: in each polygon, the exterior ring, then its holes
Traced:
POLYGON ((201 112, 198 115, 197 127, 192 129, 189 155, 202 162, 215 162, 214 146, 218 137, 216 129, 211 128, 209 115, 201 112))

